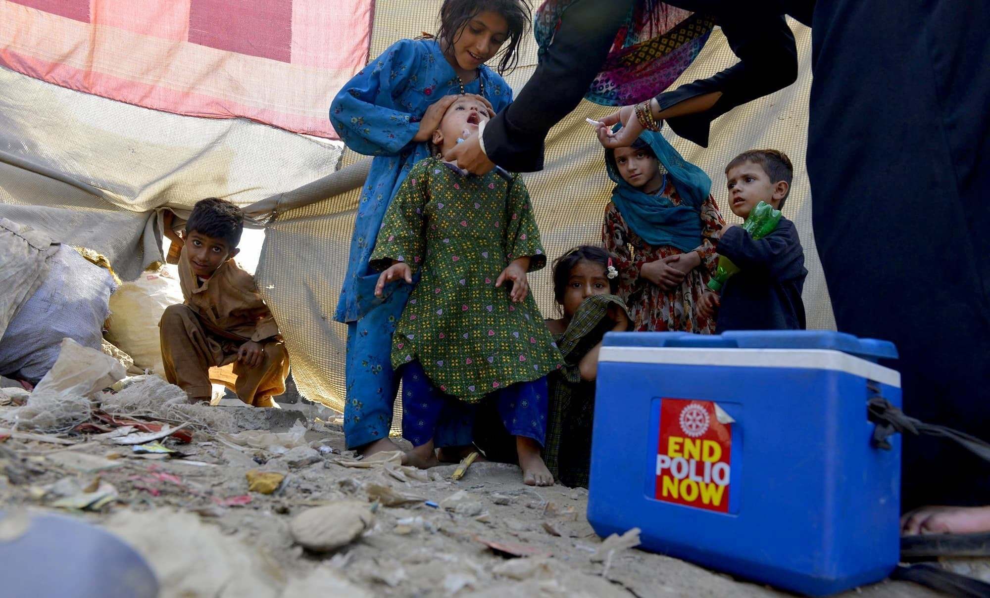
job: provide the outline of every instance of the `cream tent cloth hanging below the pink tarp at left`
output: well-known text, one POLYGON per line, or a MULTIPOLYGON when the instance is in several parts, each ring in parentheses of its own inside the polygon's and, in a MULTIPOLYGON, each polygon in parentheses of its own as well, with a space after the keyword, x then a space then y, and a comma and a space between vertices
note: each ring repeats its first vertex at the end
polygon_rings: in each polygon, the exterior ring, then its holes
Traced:
MULTIPOLYGON (((329 100, 328 100, 329 102, 329 100)), ((154 211, 241 205, 337 166, 343 145, 245 119, 183 117, 0 67, 0 217, 99 251, 124 280, 164 259, 154 211)))

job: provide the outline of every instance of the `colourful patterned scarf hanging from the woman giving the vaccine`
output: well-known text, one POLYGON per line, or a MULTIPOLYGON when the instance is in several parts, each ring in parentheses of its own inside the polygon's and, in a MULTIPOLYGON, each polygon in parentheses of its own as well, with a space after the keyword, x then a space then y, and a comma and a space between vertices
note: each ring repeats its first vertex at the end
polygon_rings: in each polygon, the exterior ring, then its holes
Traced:
MULTIPOLYGON (((537 11, 534 35, 541 58, 574 1, 546 0, 537 11)), ((708 15, 662 2, 637 2, 584 97, 604 106, 628 106, 655 96, 691 64, 714 27, 708 15)))

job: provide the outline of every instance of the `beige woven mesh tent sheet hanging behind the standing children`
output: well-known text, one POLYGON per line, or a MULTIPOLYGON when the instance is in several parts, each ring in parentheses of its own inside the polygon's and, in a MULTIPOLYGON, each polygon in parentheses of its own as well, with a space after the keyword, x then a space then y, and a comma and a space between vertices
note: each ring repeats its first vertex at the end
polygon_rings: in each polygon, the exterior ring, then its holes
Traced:
MULTIPOLYGON (((369 55, 374 58, 393 42, 435 31, 440 1, 378 0, 369 55)), ((723 213, 728 209, 725 164, 745 149, 786 151, 797 171, 785 214, 794 220, 805 247, 810 271, 804 300, 811 328, 834 329, 835 322, 822 267, 811 230, 811 195, 804 155, 811 89, 811 31, 791 22, 800 48, 800 75, 794 85, 722 117, 713 126, 708 149, 670 136, 684 156, 712 176, 713 189, 723 213)), ((521 66, 507 78, 518 92, 536 67, 536 44, 527 40, 521 66)), ((736 61, 720 31, 681 81, 708 76, 736 61)), ((605 205, 613 187, 605 173, 604 154, 584 122, 609 109, 582 102, 547 139, 545 170, 526 175, 537 219, 550 257, 580 244, 601 242, 605 205)), ((345 150, 343 163, 363 156, 345 150)), ((344 361, 347 329, 333 321, 333 313, 347 268, 347 249, 358 190, 280 214, 268 229, 257 276, 268 288, 275 318, 285 333, 292 355, 293 375, 302 392, 338 410, 345 400, 344 361)), ((533 292, 547 317, 555 314, 550 270, 536 273, 533 292)), ((398 409, 396 409, 398 414, 398 409)), ((396 420, 397 421, 397 418, 396 420)))

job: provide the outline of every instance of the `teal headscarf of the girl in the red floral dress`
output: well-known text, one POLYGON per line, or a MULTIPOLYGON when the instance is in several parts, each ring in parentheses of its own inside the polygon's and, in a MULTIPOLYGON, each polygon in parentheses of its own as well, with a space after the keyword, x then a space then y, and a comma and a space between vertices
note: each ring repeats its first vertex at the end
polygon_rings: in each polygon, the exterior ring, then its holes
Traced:
POLYGON ((606 151, 609 178, 616 182, 612 203, 633 232, 654 248, 669 246, 682 251, 698 248, 702 242, 701 205, 712 190, 712 179, 681 157, 659 133, 644 131, 637 142, 641 147, 642 144, 649 146, 666 168, 666 176, 673 180, 681 204, 675 206, 663 195, 665 182, 658 195, 648 195, 627 183, 619 173, 614 154, 606 151))

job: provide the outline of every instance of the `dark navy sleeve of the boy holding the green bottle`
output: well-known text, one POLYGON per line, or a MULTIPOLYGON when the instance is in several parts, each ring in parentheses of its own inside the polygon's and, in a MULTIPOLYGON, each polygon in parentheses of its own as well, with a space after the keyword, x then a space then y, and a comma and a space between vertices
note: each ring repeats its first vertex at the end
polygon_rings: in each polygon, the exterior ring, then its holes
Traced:
POLYGON ((757 241, 742 227, 733 227, 722 234, 717 249, 743 271, 762 272, 774 280, 797 278, 805 271, 797 228, 786 218, 780 219, 774 232, 757 241))

